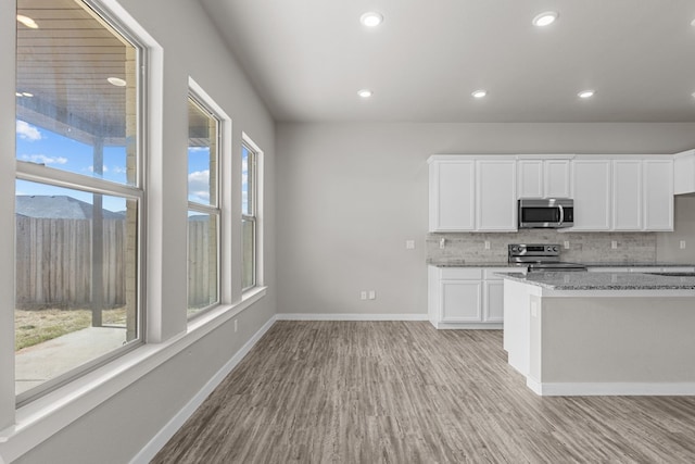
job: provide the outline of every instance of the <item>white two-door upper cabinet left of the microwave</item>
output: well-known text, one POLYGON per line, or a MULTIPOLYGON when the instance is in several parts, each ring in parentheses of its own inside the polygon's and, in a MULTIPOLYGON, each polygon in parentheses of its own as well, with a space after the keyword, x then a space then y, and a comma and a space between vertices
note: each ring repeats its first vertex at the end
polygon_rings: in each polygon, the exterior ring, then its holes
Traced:
POLYGON ((516 160, 435 155, 429 159, 430 231, 516 231, 516 160))

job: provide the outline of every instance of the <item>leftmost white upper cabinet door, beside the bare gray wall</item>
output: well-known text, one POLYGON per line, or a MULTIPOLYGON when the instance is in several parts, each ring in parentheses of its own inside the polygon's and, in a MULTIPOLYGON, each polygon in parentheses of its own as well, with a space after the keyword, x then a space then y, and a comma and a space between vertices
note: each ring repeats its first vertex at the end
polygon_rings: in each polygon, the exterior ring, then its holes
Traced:
POLYGON ((430 231, 475 229, 475 162, 430 164, 430 231))

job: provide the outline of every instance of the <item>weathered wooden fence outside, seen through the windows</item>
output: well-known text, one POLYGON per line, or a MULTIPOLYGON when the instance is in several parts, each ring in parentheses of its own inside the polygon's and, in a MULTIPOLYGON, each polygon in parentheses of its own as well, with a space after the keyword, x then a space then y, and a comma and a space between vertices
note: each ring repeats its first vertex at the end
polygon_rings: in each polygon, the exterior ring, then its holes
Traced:
MULTIPOLYGON (((189 221, 189 304, 210 301, 208 224, 189 221)), ((213 238, 214 240, 214 238, 213 238)), ((103 304, 125 304, 126 221, 103 220, 103 304)), ((137 247, 131 247, 137 249, 137 247)), ((76 308, 91 304, 90 220, 16 217, 16 306, 76 308)), ((215 280, 214 278, 212 279, 215 280)), ((213 294, 216 289, 213 289, 213 294)))

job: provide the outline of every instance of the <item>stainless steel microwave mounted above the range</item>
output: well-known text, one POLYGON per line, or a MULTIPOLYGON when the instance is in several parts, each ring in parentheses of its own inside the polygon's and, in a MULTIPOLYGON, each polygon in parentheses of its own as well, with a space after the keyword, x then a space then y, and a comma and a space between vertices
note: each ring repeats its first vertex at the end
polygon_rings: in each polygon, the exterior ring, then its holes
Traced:
POLYGON ((522 198, 519 200, 519 228, 563 228, 574 225, 571 198, 522 198))

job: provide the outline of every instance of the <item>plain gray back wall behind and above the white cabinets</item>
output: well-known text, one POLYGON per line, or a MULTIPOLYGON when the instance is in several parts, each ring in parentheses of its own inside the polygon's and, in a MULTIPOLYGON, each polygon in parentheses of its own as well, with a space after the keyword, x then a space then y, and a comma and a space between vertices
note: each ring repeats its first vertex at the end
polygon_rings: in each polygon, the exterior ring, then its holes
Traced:
MULTIPOLYGON (((285 123, 277 147, 278 312, 425 314, 429 155, 675 153, 695 124, 285 123)), ((657 259, 672 248, 659 239, 657 259)))

